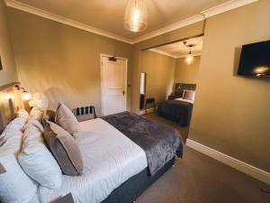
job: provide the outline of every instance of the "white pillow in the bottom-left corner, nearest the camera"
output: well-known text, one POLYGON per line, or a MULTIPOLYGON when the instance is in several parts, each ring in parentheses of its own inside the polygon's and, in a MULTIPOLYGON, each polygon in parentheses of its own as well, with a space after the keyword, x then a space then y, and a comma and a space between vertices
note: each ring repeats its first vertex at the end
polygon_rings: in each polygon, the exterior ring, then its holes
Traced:
POLYGON ((5 172, 0 174, 0 200, 28 203, 37 193, 37 185, 24 173, 13 154, 0 156, 5 172))

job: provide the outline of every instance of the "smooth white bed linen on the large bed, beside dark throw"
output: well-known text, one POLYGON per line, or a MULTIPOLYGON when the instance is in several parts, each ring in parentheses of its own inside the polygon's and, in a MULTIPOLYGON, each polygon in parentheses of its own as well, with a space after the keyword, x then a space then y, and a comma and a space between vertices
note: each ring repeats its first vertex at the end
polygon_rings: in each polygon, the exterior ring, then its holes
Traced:
POLYGON ((76 203, 98 203, 121 183, 147 166, 145 152, 103 119, 80 123, 84 133, 76 135, 84 161, 82 176, 63 175, 59 189, 40 186, 40 201, 48 203, 71 192, 76 203))

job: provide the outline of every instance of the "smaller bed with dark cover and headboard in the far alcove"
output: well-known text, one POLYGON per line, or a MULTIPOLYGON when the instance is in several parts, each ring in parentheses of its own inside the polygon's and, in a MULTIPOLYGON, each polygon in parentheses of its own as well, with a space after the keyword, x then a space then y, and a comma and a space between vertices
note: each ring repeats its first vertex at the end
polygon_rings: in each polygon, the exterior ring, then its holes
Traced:
POLYGON ((193 92, 196 85, 176 83, 170 99, 157 106, 157 115, 175 121, 182 126, 190 124, 193 112, 193 99, 185 99, 185 92, 193 92))

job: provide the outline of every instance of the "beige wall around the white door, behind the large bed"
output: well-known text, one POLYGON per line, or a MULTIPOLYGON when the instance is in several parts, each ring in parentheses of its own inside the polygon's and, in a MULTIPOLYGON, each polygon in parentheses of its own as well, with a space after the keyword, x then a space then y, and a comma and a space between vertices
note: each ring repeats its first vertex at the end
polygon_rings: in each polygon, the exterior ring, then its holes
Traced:
MULTIPOLYGON (((129 59, 130 44, 9 8, 18 77, 31 93, 44 92, 52 106, 94 105, 101 113, 100 54, 129 59)), ((128 88, 128 108, 130 108, 128 88)))

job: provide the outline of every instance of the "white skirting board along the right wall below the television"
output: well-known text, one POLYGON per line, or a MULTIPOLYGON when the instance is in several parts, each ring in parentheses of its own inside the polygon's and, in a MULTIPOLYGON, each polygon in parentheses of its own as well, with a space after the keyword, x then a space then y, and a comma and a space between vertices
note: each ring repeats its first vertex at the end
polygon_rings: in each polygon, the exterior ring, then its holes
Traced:
POLYGON ((193 150, 202 152, 203 154, 210 156, 217 161, 223 162, 224 164, 229 165, 230 167, 238 171, 244 172, 257 180, 261 180, 263 182, 266 182, 266 184, 270 185, 270 173, 267 171, 258 169, 252 165, 249 165, 246 162, 239 161, 227 154, 213 150, 210 147, 202 145, 201 143, 197 143, 191 139, 186 140, 186 145, 190 148, 193 148, 193 150))

